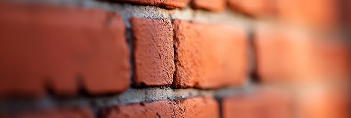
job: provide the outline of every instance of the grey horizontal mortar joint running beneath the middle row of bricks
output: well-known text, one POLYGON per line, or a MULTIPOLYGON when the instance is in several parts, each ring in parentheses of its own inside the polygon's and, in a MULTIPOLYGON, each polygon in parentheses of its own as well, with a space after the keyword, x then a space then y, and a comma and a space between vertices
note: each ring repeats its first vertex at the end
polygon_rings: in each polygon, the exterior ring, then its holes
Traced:
POLYGON ((254 86, 245 84, 244 86, 231 86, 221 89, 174 89, 171 87, 145 87, 145 88, 128 88, 124 93, 117 95, 88 96, 80 94, 73 98, 60 98, 48 94, 43 99, 26 100, 12 99, 0 101, 0 112, 4 111, 25 111, 32 109, 43 109, 50 107, 89 107, 92 109, 101 109, 109 106, 125 105, 140 102, 152 102, 159 100, 174 100, 179 98, 191 98, 197 96, 209 96, 213 98, 222 98, 227 95, 246 92, 254 86))

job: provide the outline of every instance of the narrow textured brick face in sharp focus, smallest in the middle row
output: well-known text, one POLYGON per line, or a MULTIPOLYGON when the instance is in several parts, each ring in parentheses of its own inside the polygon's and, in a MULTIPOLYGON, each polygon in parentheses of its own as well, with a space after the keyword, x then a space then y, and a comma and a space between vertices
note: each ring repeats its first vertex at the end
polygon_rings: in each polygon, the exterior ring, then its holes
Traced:
POLYGON ((173 29, 166 19, 130 19, 134 49, 134 83, 171 85, 174 73, 173 29))

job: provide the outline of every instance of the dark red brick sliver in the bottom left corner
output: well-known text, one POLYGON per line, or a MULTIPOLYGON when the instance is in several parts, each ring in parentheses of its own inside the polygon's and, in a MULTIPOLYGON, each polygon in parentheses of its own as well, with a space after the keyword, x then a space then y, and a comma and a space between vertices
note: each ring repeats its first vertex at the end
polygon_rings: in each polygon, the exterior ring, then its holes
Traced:
POLYGON ((45 110, 32 110, 20 113, 10 113, 1 118, 94 118, 93 112, 88 108, 50 108, 45 110))

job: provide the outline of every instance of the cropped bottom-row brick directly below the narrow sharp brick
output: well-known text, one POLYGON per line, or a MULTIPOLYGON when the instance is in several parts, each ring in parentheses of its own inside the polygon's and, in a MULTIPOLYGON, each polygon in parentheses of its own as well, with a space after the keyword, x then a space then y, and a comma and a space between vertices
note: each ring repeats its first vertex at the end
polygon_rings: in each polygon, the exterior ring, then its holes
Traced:
POLYGON ((209 97, 119 105, 101 111, 101 118, 219 118, 218 103, 209 97))

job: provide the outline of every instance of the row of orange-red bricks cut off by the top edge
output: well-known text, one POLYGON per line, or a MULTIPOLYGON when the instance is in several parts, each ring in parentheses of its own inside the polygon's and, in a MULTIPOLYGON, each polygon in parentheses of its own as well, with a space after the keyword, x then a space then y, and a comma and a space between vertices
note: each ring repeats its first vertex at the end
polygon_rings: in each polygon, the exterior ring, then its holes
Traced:
POLYGON ((229 9, 252 17, 275 17, 287 23, 331 28, 341 19, 339 0, 113 0, 167 9, 184 8, 214 12, 229 9), (308 10, 307 10, 308 9, 308 10))

